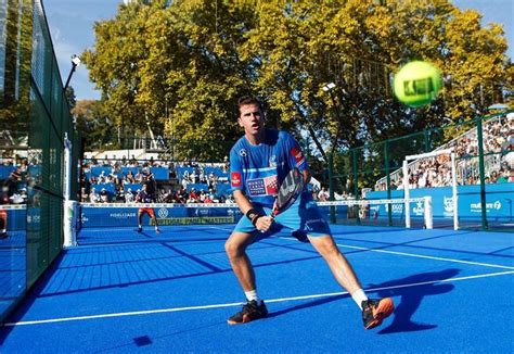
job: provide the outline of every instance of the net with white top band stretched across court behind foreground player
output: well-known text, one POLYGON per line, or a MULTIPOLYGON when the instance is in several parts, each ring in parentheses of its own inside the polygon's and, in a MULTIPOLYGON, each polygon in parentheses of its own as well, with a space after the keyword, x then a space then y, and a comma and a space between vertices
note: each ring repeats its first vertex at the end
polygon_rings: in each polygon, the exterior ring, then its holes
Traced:
MULTIPOLYGON (((318 202, 320 211, 331 224, 398 226, 432 228, 433 213, 429 197, 393 200, 342 200, 318 202), (406 210, 409 208, 411 225, 406 225, 406 210)), ((76 203, 67 202, 65 207, 65 246, 86 244, 89 241, 111 242, 138 238, 133 229, 138 226, 138 212, 141 207, 154 210, 160 228, 182 226, 188 228, 201 225, 220 226, 235 224, 243 214, 236 204, 119 204, 119 203, 76 203)), ((153 222, 143 216, 141 239, 153 237, 153 222)), ((230 228, 228 228, 230 232, 230 228)))

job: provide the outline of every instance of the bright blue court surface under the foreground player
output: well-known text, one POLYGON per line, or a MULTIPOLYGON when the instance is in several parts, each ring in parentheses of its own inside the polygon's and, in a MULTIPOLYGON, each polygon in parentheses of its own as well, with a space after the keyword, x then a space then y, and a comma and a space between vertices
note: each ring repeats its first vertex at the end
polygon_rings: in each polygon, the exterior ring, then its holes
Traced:
POLYGON ((333 226, 370 298, 360 309, 308 243, 249 248, 269 317, 229 326, 244 300, 223 244, 232 225, 91 229, 0 332, 1 353, 513 353, 513 233, 333 226))

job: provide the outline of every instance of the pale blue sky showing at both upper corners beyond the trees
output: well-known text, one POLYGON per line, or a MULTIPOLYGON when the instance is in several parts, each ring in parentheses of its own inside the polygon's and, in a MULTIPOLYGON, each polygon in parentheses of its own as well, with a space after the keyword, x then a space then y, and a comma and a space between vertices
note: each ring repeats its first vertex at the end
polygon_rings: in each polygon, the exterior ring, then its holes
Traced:
MULTIPOLYGON (((483 25, 494 22, 503 25, 509 42, 507 55, 514 59, 514 1, 513 0, 453 0, 459 9, 474 9, 483 14, 483 25)), ((94 46, 93 25, 115 16, 121 0, 42 0, 50 33, 57 56, 63 83, 72 68, 72 55, 94 46)), ((69 85, 77 100, 100 99, 100 91, 89 81, 87 68, 81 65, 69 85)))

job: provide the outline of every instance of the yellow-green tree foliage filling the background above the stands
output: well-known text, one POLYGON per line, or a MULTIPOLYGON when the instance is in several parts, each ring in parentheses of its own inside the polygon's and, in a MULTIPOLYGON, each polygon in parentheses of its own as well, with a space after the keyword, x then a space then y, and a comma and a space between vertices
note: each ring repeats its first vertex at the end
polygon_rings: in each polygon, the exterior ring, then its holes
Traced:
POLYGON ((326 157, 484 114, 512 91, 501 26, 481 27, 478 13, 448 0, 146 2, 99 22, 82 58, 121 134, 142 134, 150 121, 178 157, 226 155, 241 135, 236 99, 247 93, 266 100, 270 126, 307 134, 326 157), (416 110, 390 88, 414 59, 445 78, 442 94, 416 110))

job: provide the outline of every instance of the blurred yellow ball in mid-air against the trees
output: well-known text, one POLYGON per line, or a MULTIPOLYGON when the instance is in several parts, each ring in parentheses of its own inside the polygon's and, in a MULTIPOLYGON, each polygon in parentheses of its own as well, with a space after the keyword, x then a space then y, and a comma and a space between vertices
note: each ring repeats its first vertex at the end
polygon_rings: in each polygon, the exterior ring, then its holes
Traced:
POLYGON ((413 106, 429 103, 442 87, 439 69, 427 62, 414 61, 403 65, 395 75, 395 94, 401 102, 413 106))

